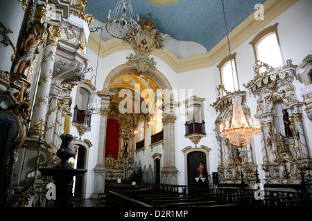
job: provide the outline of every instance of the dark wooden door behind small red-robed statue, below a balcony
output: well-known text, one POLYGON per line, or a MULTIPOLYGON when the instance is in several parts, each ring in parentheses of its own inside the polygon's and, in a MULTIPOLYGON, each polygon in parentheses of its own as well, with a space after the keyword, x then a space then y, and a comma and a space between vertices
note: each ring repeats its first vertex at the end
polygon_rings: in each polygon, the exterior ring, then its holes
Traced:
POLYGON ((197 186, 196 177, 199 177, 198 167, 200 163, 204 166, 202 172, 203 177, 206 177, 207 182, 207 162, 206 154, 200 151, 194 151, 187 155, 187 181, 188 185, 197 186))

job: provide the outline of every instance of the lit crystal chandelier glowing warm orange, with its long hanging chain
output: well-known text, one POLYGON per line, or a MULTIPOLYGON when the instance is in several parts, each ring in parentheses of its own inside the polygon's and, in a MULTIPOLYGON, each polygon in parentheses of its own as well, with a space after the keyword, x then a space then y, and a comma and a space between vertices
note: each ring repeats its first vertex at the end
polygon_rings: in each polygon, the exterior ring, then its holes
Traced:
MULTIPOLYGON (((223 8, 223 17, 225 21, 225 28, 227 31, 227 21, 225 19, 225 10, 222 1, 222 8, 223 8)), ((229 46, 229 34, 227 31, 227 45, 229 47, 229 59, 231 62, 232 67, 232 77, 233 77, 233 84, 234 84, 234 93, 232 94, 232 107, 233 107, 233 117, 232 117, 232 124, 229 127, 229 122, 226 122, 226 125, 220 124, 220 135, 227 137, 229 142, 235 146, 246 146, 252 143, 252 139, 254 135, 261 133, 261 126, 259 122, 256 122, 256 128, 253 127, 252 119, 249 119, 249 124, 245 118, 243 113, 243 108, 241 107, 241 96, 238 95, 236 92, 235 87, 235 80, 234 80, 234 70, 232 65, 232 55, 231 55, 231 48, 229 46)))

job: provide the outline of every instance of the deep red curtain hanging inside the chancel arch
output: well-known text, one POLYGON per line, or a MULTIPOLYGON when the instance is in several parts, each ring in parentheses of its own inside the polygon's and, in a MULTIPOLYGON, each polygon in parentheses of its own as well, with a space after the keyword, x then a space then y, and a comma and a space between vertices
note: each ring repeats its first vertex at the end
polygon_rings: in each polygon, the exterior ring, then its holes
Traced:
POLYGON ((115 159, 118 159, 119 151, 119 122, 116 119, 107 119, 106 126, 106 142, 105 142, 105 157, 110 153, 115 159))

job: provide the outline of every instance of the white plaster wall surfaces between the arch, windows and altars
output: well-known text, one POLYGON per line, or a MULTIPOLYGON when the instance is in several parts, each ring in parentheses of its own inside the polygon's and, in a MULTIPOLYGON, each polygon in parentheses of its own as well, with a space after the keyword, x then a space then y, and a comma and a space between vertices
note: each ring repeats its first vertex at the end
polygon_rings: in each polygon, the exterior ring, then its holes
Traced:
MULTIPOLYGON (((292 59, 293 64, 299 65, 302 62, 302 59, 306 55, 311 54, 312 44, 312 17, 311 17, 311 6, 312 1, 310 0, 301 0, 298 1, 293 7, 286 10, 282 15, 277 17, 274 21, 270 22, 268 26, 271 26, 274 23, 279 23, 278 33, 279 40, 281 44, 281 49, 284 55, 284 59, 292 59)), ((249 44, 250 40, 253 38, 250 37, 248 41, 245 41, 241 46, 235 48, 233 52, 236 52, 236 66, 239 75, 239 88, 245 90, 243 84, 247 84, 250 79, 253 78, 253 69, 252 64, 254 64, 254 52, 252 46, 249 44)), ((123 50, 119 52, 114 52, 111 55, 105 57, 104 59, 99 60, 98 65, 98 77, 96 87, 98 90, 103 88, 103 83, 110 73, 111 70, 116 68, 121 64, 125 64, 126 57, 130 55, 132 51, 123 50)), ((94 74, 96 71, 96 54, 91 50, 88 51, 87 57, 89 59, 89 67, 94 68, 94 74)), ((177 121, 175 123, 175 164, 177 166, 178 172, 178 184, 185 184, 185 174, 187 171, 184 171, 184 154, 182 149, 187 146, 195 147, 190 140, 184 137, 185 133, 185 122, 184 122, 184 104, 182 101, 191 97, 191 95, 196 95, 198 97, 205 97, 204 109, 205 109, 205 122, 206 122, 206 133, 207 136, 203 137, 202 140, 197 144, 205 145, 211 148, 209 153, 209 173, 216 171, 218 166, 218 150, 217 142, 214 134, 214 121, 216 120, 216 111, 210 106, 210 104, 216 102, 216 87, 220 84, 220 75, 216 65, 218 62, 209 68, 202 68, 199 70, 193 70, 185 73, 175 73, 166 62, 162 61, 158 57, 154 57, 157 67, 157 70, 161 72, 166 79, 168 79, 171 87, 178 92, 182 92, 179 96, 175 97, 175 100, 180 103, 180 107, 177 110, 177 121), (193 94, 187 94, 189 90, 193 90, 193 94), (184 91, 184 94, 183 94, 184 91)), ((87 74, 86 79, 90 79, 91 75, 87 74), (89 78, 88 78, 89 77, 89 78)), ((294 82, 297 86, 297 98, 302 102, 302 97, 300 97, 300 88, 304 86, 299 81, 294 82)), ((73 89, 73 93, 76 93, 76 90, 73 89)), ((256 113, 257 103, 253 95, 249 96, 247 92, 246 96, 248 106, 250 107, 250 113, 253 117, 256 113)), ((73 99, 74 101, 74 99, 73 99)), ((72 108, 74 105, 72 105, 72 108)), ((304 106, 303 106, 304 108, 304 106)), ((73 110, 72 110, 73 111, 73 110)), ((307 119, 306 114, 303 111, 304 124, 306 126, 306 135, 308 143, 312 143, 312 123, 307 119)), ((91 194, 93 191, 93 169, 96 166, 97 161, 97 150, 98 150, 98 131, 99 131, 99 119, 92 116, 92 131, 85 133, 83 139, 90 140, 94 146, 90 148, 89 152, 89 166, 87 172, 87 193, 91 194)), ((76 128, 71 128, 71 131, 75 131, 76 128)), ((148 165, 153 164, 153 158, 151 157, 155 153, 161 153, 163 159, 163 148, 162 145, 155 146, 153 152, 149 146, 150 142, 150 128, 146 128, 146 150, 135 154, 135 161, 137 163, 141 161, 141 165, 148 168, 148 165)), ((254 137, 254 148, 256 152, 257 164, 262 164, 262 154, 260 146, 260 136, 254 137)), ((311 153, 311 150, 310 150, 311 153)), ((163 162, 161 162, 162 166, 163 162)), ((259 166, 260 178, 263 179, 264 173, 259 166)))

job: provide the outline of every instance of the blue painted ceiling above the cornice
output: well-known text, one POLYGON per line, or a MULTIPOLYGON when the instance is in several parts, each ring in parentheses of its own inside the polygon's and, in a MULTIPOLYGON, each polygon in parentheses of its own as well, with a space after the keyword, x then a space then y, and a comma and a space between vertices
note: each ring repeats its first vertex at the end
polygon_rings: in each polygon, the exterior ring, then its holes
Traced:
MULTIPOLYGON (((224 0, 229 32, 266 0, 224 0)), ((86 13, 105 22, 108 10, 114 10, 118 0, 89 0, 86 13)), ((132 9, 140 20, 151 21, 159 31, 180 41, 195 41, 207 51, 226 37, 221 0, 132 0, 132 9), (155 3, 158 2, 158 3, 155 3)))

